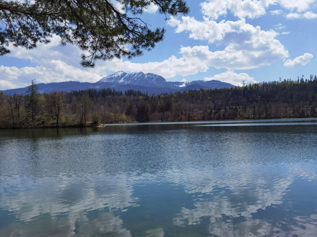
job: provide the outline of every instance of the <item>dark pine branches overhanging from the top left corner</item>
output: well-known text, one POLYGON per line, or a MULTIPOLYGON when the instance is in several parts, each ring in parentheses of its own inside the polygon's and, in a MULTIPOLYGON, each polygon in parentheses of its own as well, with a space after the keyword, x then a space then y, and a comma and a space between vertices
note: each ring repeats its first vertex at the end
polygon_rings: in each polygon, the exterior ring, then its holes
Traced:
POLYGON ((0 56, 10 53, 10 43, 33 49, 54 34, 61 45, 74 44, 85 52, 84 67, 98 59, 139 56, 165 33, 140 18, 150 4, 165 18, 189 12, 184 0, 0 0, 0 56))

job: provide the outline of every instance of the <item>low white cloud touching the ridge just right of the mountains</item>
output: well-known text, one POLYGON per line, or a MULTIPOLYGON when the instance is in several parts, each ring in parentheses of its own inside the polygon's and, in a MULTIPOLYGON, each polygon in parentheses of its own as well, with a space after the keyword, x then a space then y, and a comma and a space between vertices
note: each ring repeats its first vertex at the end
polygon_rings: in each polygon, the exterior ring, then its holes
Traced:
POLYGON ((235 86, 242 86, 243 81, 248 84, 257 83, 253 77, 249 76, 247 73, 236 73, 233 70, 227 70, 226 72, 214 75, 212 77, 205 77, 205 81, 217 80, 222 82, 227 82, 235 86))

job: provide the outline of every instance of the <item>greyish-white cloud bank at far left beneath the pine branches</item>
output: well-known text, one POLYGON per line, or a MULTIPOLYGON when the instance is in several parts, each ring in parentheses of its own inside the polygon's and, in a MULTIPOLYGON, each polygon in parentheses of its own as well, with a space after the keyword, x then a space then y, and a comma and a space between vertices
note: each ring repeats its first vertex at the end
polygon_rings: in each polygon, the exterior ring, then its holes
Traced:
MULTIPOLYGON (((37 83, 98 81, 105 72, 103 68, 84 69, 80 67, 81 52, 76 46, 59 46, 59 37, 54 36, 49 44, 39 44, 34 50, 9 46, 9 57, 29 59, 35 66, 5 67, 0 66, 1 79, 10 81, 14 87, 25 87, 35 79, 37 83)), ((3 84, 3 83, 2 83, 3 84)), ((12 84, 0 85, 0 89, 12 88, 12 84)))

